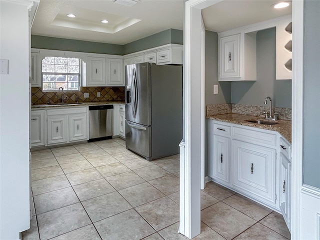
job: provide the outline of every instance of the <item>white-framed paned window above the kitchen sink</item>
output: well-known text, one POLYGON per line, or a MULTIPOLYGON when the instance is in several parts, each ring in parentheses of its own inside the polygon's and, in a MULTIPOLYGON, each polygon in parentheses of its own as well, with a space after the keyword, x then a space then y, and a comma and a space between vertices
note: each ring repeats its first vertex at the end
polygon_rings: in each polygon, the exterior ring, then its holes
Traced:
POLYGON ((79 58, 46 56, 42 59, 42 91, 79 91, 79 58))

